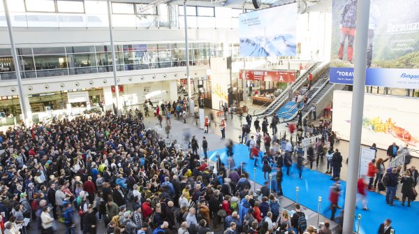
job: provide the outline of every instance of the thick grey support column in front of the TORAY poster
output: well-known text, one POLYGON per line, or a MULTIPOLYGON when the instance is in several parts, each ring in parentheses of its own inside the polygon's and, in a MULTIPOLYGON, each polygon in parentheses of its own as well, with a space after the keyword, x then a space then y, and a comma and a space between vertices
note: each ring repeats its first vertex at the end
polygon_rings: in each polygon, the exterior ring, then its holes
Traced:
POLYGON ((344 234, 353 233, 355 201, 360 166, 362 135, 362 113, 364 112, 365 76, 367 71, 367 42, 370 0, 358 1, 355 34, 355 69, 353 73, 353 95, 351 132, 349 138, 348 177, 346 181, 344 234))

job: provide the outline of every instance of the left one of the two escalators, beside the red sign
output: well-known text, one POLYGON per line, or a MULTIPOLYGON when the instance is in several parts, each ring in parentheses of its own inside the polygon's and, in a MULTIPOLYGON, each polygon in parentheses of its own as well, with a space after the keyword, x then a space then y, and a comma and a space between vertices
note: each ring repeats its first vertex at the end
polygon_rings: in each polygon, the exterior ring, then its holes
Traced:
MULTIPOLYGON (((322 64, 322 62, 316 62, 316 64, 311 66, 309 70, 307 70, 305 73, 300 75, 297 78, 297 80, 293 82, 293 84, 291 84, 288 88, 286 88, 284 92, 279 94, 279 96, 277 96, 277 98, 275 98, 274 101, 272 101, 272 103, 270 103, 270 105, 268 105, 267 108, 265 108, 265 110, 261 110, 260 112, 256 112, 255 110, 253 112, 253 116, 274 115, 274 113, 279 112, 279 110, 283 108, 284 106, 290 107, 291 105, 290 109, 292 109, 293 105, 295 104, 295 103, 292 103, 293 100, 291 100, 291 97, 293 97, 293 94, 296 91, 299 91, 304 86, 309 76, 309 73, 314 74, 316 73, 316 71, 320 71, 324 66, 325 64, 322 64)), ((316 75, 314 75, 314 77, 316 77, 316 75)))

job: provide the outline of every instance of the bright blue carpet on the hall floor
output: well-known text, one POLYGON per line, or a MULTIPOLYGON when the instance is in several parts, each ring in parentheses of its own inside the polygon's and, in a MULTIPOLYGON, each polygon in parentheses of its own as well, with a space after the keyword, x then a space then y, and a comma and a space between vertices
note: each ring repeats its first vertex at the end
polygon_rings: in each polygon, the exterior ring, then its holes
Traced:
MULTIPOLYGON (((221 161, 226 164, 227 155, 226 148, 208 152, 210 159, 216 161, 216 154, 220 154, 221 161)), ((233 147, 234 159, 236 167, 240 166, 240 162, 244 163, 244 170, 249 173, 249 179, 254 180, 253 176, 253 160, 249 159, 249 148, 246 145, 235 145, 233 147)), ((263 152, 260 152, 263 155, 263 152)), ((263 172, 261 167, 261 158, 258 158, 258 167, 256 168, 256 183, 263 184, 263 172)), ((273 168, 274 169, 274 168, 273 168)), ((302 172, 303 179, 298 178, 298 170, 295 165, 291 168, 290 176, 286 175, 286 168, 283 168, 284 181, 282 188, 284 196, 291 200, 296 200, 295 187, 299 187, 298 203, 318 212, 318 196, 322 197, 321 214, 330 218, 331 211, 328 210, 330 202, 329 190, 333 181, 329 175, 319 173, 316 170, 304 168, 302 172)), ((344 207, 344 189, 346 182, 341 181, 342 195, 339 197, 339 206, 344 207)), ((253 186, 253 184, 252 184, 253 186)), ((390 207, 385 204, 385 197, 379 193, 368 192, 369 211, 363 211, 362 205, 359 203, 355 210, 356 214, 361 214, 360 234, 377 233, 378 226, 385 220, 391 219, 392 226, 397 233, 411 233, 414 224, 419 220, 419 203, 411 203, 411 207, 402 207, 399 201, 395 201, 395 206, 390 207), (413 225, 413 226, 412 226, 413 225)), ((339 213, 339 210, 337 214, 339 213)), ((355 225, 356 225, 355 221, 355 225)), ((355 230, 355 227, 354 227, 355 230)))

